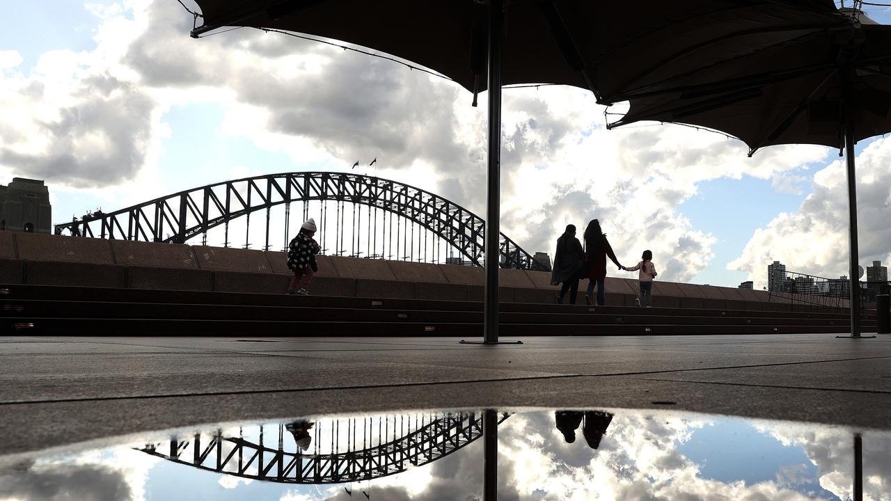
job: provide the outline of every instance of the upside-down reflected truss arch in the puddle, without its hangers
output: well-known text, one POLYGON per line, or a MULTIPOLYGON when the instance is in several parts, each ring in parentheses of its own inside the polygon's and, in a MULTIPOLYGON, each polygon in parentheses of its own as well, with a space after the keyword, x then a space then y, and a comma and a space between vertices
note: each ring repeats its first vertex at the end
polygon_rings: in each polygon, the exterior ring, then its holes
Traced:
MULTIPOLYGON (((503 423, 510 415, 498 415, 503 423)), ((235 477, 293 484, 335 484, 405 472, 428 464, 483 434, 483 413, 441 415, 418 430, 372 448, 331 454, 285 451, 282 440, 270 448, 241 437, 195 433, 191 439, 147 444, 138 449, 168 461, 235 477)))

